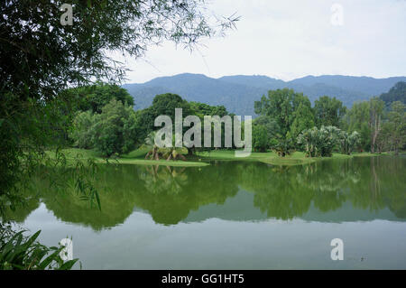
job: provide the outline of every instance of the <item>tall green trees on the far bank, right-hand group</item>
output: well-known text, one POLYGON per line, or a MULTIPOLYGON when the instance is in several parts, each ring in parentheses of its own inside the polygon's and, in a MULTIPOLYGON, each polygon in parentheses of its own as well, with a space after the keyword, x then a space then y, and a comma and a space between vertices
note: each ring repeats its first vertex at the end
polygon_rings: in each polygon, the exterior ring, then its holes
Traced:
MULTIPOLYGON (((400 82, 390 94, 399 96, 401 87, 400 82)), ((318 98, 311 107, 309 98, 291 89, 269 91, 255 102, 260 116, 254 120, 253 146, 281 155, 298 149, 309 156, 331 156, 333 151, 397 154, 406 148, 405 104, 393 101, 388 106, 382 99, 386 95, 347 109, 336 98, 318 98)))

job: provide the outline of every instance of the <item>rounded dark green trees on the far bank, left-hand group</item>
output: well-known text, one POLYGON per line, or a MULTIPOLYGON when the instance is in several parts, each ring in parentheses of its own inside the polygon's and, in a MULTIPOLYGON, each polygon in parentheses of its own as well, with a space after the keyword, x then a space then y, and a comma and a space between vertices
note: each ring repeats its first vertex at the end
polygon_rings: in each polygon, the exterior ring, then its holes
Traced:
MULTIPOLYGON (((106 157, 128 153, 141 144, 153 145, 152 133, 159 129, 154 126, 155 118, 170 116, 174 124, 175 108, 182 108, 183 117, 198 116, 202 122, 204 116, 230 115, 223 106, 188 102, 171 93, 157 95, 151 107, 134 111, 133 98, 125 89, 118 89, 115 85, 72 89, 69 94, 80 99, 74 126, 69 133, 71 144, 78 148, 95 149, 106 157), (109 90, 115 93, 109 94, 109 90), (84 91, 91 94, 83 94, 84 91)), ((189 153, 195 150, 196 147, 190 147, 189 153)))

